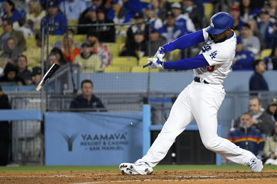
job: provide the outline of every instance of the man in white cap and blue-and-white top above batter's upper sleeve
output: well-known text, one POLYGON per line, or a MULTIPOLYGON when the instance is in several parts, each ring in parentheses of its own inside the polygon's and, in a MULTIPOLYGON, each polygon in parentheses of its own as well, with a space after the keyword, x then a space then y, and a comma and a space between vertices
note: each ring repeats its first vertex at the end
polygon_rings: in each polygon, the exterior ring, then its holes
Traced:
POLYGON ((171 5, 171 11, 175 18, 175 24, 177 26, 182 27, 186 34, 190 34, 196 31, 192 20, 188 16, 185 16, 184 14, 182 14, 182 8, 180 3, 177 3, 177 2, 173 3, 171 5))

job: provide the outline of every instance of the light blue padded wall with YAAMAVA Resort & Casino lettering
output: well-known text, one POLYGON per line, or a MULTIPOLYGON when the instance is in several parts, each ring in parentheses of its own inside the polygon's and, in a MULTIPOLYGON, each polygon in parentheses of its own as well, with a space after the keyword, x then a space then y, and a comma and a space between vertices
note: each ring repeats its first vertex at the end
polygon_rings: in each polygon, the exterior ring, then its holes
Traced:
POLYGON ((142 112, 44 116, 45 165, 119 165, 142 157, 142 112))

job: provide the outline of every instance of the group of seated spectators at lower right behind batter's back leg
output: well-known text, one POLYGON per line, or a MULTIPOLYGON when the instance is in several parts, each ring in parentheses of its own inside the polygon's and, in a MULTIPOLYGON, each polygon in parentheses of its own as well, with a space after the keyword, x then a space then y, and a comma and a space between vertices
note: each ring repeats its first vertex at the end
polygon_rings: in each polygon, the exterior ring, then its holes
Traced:
POLYGON ((227 139, 240 148, 251 151, 265 164, 277 164, 277 122, 273 112, 277 108, 277 98, 268 102, 267 109, 257 96, 250 97, 249 112, 244 112, 235 120, 227 139))

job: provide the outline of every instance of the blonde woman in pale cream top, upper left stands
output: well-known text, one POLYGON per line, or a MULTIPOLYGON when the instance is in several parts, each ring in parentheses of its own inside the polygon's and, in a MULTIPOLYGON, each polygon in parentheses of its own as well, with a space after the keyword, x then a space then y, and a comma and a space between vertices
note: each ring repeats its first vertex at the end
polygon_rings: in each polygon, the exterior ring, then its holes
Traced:
POLYGON ((31 0, 29 2, 30 12, 26 15, 27 23, 33 28, 34 31, 40 30, 40 22, 45 16, 46 11, 42 9, 40 1, 31 0))

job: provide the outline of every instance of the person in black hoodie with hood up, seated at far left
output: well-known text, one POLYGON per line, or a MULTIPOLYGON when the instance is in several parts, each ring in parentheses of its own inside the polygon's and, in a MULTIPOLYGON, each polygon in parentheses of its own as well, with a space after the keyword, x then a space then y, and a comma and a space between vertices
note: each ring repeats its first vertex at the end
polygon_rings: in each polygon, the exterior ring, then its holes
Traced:
POLYGON ((17 82, 17 85, 25 85, 23 78, 17 75, 17 68, 11 63, 7 63, 4 76, 0 77, 0 82, 17 82))

